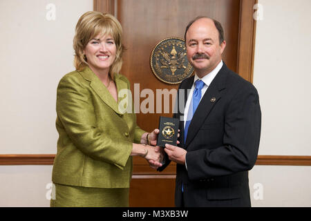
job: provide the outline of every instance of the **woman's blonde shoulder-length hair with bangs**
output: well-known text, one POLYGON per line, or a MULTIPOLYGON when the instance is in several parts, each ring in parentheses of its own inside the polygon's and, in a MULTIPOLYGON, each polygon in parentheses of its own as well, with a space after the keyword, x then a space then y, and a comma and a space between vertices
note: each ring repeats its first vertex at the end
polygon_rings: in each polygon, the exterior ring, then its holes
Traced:
POLYGON ((73 49, 75 50, 74 65, 77 70, 83 70, 87 64, 86 57, 83 53, 88 41, 97 35, 111 35, 117 48, 115 61, 111 65, 109 75, 111 79, 118 74, 122 67, 122 26, 113 15, 101 12, 84 13, 75 26, 75 37, 73 39, 73 49))

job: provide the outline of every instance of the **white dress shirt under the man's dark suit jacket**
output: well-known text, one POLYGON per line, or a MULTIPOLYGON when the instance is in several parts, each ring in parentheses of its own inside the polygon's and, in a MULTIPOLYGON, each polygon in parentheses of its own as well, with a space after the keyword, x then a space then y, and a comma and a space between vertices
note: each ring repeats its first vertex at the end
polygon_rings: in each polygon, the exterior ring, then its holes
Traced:
MULTIPOLYGON (((194 75, 194 83, 196 82, 196 80, 200 79, 205 83, 205 86, 203 86, 203 88, 201 89, 201 99, 204 96, 207 88, 209 87, 209 85, 211 84, 211 81, 213 81, 213 79, 216 77, 216 75, 218 74, 219 70, 223 67, 223 60, 221 60, 219 62, 219 64, 216 66, 216 68, 214 68, 214 70, 212 70, 210 73, 208 73, 207 75, 205 75, 204 77, 202 77, 201 79, 198 77, 198 75, 194 75)), ((187 116, 188 116, 188 111, 189 111, 189 106, 191 104, 191 99, 192 99, 192 95, 194 95, 194 88, 196 87, 195 84, 192 84, 191 86, 191 90, 190 93, 188 95, 187 98, 187 103, 185 105, 185 113, 184 113, 184 128, 186 126, 186 122, 187 122, 187 116)), ((187 157, 187 154, 186 154, 187 157)), ((186 169, 187 169, 187 158, 185 161, 186 164, 186 169)))

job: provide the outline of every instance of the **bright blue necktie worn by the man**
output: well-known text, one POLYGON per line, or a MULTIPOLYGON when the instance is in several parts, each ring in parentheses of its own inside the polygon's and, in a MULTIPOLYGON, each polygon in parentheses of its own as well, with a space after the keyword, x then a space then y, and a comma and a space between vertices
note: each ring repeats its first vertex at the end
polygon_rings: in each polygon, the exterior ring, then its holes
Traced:
POLYGON ((191 103, 189 105, 187 122, 185 126, 185 133, 184 133, 185 144, 186 144, 188 128, 189 128, 191 119, 194 116, 194 113, 196 112, 196 108, 198 108, 198 104, 200 103, 200 99, 201 99, 201 90, 205 86, 204 82, 201 80, 197 80, 195 84, 196 84, 196 88, 194 88, 194 95, 192 95, 191 103))

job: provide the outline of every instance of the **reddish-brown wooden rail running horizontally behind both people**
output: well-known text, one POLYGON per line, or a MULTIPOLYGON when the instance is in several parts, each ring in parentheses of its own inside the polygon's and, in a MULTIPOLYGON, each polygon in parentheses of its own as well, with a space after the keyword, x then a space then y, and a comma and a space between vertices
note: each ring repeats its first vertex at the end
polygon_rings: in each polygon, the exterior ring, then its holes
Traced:
MULTIPOLYGON (((53 165, 54 157, 55 154, 3 154, 0 155, 0 165, 53 165)), ((149 168, 141 157, 134 157, 133 164, 133 174, 160 174, 149 168)), ((258 155, 256 165, 311 166, 311 156, 258 155)), ((176 164, 171 164, 165 174, 173 175, 175 167, 176 164)))

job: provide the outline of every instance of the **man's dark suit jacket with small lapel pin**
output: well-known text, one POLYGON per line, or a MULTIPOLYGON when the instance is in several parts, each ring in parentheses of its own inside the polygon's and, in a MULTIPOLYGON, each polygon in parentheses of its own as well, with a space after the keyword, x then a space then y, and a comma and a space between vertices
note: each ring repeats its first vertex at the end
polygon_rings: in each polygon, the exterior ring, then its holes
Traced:
MULTIPOLYGON (((187 102, 187 93, 181 92, 193 83, 194 77, 182 81, 178 102, 184 94, 187 102)), ((174 114, 181 120, 179 145, 187 150, 187 169, 177 164, 176 206, 250 206, 248 171, 256 162, 261 135, 256 88, 223 64, 200 101, 186 142, 183 112, 174 114)))

